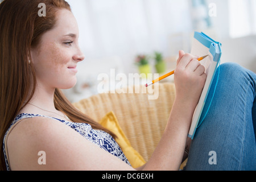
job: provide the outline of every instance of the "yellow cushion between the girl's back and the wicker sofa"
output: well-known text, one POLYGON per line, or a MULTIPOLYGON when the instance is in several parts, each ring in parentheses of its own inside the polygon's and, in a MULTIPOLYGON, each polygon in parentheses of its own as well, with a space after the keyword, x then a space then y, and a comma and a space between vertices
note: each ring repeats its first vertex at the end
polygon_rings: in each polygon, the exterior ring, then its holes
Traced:
POLYGON ((105 117, 101 119, 100 124, 117 135, 115 141, 118 143, 133 168, 141 167, 146 163, 142 156, 131 146, 129 140, 119 126, 113 111, 106 114, 105 117))

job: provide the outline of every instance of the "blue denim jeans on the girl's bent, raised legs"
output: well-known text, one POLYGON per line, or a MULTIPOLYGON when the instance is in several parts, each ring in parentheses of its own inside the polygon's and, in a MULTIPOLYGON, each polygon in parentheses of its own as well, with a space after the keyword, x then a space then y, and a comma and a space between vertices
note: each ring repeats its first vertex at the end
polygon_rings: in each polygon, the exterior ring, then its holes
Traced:
MULTIPOLYGON (((213 91, 214 85, 208 98, 213 91)), ((256 74, 238 64, 221 64, 212 104, 196 130, 185 170, 256 170, 255 134, 256 74)))

